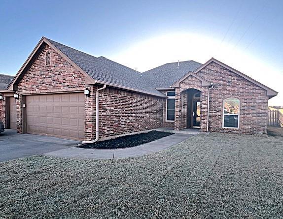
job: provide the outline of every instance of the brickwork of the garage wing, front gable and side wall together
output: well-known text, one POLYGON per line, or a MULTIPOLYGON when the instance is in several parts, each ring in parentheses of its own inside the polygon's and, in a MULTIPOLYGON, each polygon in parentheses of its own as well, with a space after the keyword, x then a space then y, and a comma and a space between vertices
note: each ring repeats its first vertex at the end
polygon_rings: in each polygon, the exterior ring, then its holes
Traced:
MULTIPOLYGON (((93 140, 98 88, 85 85, 85 76, 46 45, 18 83, 17 132, 23 133, 23 94, 75 92, 85 87, 90 90, 90 97, 85 98, 85 140, 93 140), (45 65, 47 51, 51 52, 51 66, 45 65)), ((99 102, 100 138, 163 126, 164 98, 106 87, 100 91, 99 102)))

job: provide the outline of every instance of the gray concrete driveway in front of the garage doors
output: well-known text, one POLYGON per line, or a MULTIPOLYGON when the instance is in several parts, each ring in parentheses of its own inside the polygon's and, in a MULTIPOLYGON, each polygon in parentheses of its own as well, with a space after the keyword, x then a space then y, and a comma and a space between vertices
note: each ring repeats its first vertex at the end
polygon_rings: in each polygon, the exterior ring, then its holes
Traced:
POLYGON ((0 133, 0 162, 67 149, 79 142, 34 134, 17 134, 6 129, 0 133))

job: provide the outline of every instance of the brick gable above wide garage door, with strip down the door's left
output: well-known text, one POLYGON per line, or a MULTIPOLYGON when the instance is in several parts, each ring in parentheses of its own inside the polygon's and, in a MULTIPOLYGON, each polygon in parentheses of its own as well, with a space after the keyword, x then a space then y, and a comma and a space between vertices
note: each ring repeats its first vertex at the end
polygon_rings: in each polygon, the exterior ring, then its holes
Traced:
POLYGON ((18 84, 17 132, 23 133, 22 95, 83 91, 85 76, 60 54, 46 45, 18 84), (45 54, 51 52, 51 65, 45 65, 45 54))

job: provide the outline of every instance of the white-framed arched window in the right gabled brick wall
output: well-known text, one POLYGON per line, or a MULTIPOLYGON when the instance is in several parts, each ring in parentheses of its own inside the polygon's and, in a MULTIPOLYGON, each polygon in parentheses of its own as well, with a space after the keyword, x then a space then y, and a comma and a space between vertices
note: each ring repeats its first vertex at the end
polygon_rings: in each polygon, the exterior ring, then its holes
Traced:
POLYGON ((223 103, 223 128, 239 128, 240 100, 230 97, 223 103))

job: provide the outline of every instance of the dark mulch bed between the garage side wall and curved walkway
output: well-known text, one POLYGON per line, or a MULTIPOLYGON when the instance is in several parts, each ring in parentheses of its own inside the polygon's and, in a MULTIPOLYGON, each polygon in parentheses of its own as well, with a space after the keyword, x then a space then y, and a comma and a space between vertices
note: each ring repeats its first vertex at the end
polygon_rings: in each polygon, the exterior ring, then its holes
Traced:
POLYGON ((93 144, 83 144, 78 146, 79 148, 91 148, 91 149, 117 149, 117 148, 129 148, 145 144, 169 135, 173 133, 162 131, 149 131, 147 133, 127 135, 105 141, 98 141, 93 144))

